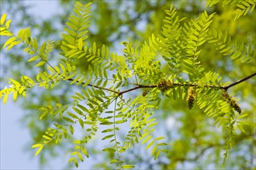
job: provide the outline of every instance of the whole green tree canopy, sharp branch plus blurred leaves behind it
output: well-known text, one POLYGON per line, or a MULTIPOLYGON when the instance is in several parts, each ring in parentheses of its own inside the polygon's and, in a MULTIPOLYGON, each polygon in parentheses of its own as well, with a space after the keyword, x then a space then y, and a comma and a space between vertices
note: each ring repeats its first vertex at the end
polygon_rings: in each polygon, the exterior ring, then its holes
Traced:
POLYGON ((22 100, 42 165, 254 168, 256 1, 61 5, 42 28, 0 22, 1 53, 27 68, 2 65, 0 97, 22 100))

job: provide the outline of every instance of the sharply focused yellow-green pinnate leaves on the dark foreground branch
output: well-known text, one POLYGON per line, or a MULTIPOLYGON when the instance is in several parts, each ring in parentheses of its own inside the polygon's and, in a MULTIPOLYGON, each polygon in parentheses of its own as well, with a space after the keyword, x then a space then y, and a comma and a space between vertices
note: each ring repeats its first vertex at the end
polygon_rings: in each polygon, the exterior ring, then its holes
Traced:
MULTIPOLYGON (((208 1, 213 5, 217 1, 208 1)), ((225 1, 227 3, 231 1, 225 1)), ((238 1, 239 2, 239 1, 238 1)), ((54 41, 39 44, 30 29, 21 29, 14 34, 10 29, 12 20, 6 20, 6 14, 1 17, 0 36, 8 36, 4 47, 23 44, 25 53, 31 57, 29 63, 42 68, 36 77, 21 76, 20 80, 9 79, 9 87, 0 92, 5 104, 12 95, 13 100, 18 96, 26 97, 26 91, 35 86, 54 89, 57 83, 69 82, 79 88, 72 96, 71 104, 54 104, 40 107, 40 120, 47 114, 60 117, 64 124, 54 123, 42 136, 42 142, 35 144, 36 155, 50 143, 56 145, 74 134, 75 124, 85 131, 85 137, 74 140, 74 149, 68 162, 84 162, 89 157, 87 143, 97 133, 102 133, 102 141, 109 141, 111 147, 102 151, 116 155, 110 163, 119 168, 133 168, 123 162, 122 154, 136 143, 146 145, 154 159, 161 153, 168 153, 167 143, 163 136, 155 136, 154 110, 161 103, 161 97, 182 99, 188 102, 189 109, 196 104, 205 114, 215 120, 217 126, 227 131, 229 138, 224 158, 231 148, 234 137, 234 124, 244 132, 247 124, 240 121, 247 114, 241 110, 237 99, 230 96, 227 90, 238 83, 255 76, 247 76, 236 83, 223 83, 221 76, 213 71, 206 72, 200 63, 200 53, 204 43, 214 43, 216 50, 224 56, 230 56, 242 63, 254 61, 255 46, 244 45, 238 40, 232 41, 227 32, 209 29, 215 13, 202 12, 197 19, 180 19, 173 6, 165 11, 164 26, 161 35, 152 34, 140 49, 132 42, 122 42, 123 55, 109 52, 108 47, 88 45, 88 27, 90 26, 91 4, 76 2, 74 13, 68 18, 65 33, 61 43, 60 63, 52 65, 48 59, 54 50, 54 41), (247 48, 248 47, 248 48, 247 48), (88 63, 85 72, 81 72, 78 63, 85 59, 88 63), (168 64, 168 72, 163 71, 163 65, 168 64), (43 67, 44 65, 47 66, 43 67), (186 78, 187 77, 187 78, 186 78), (124 94, 144 89, 135 97, 124 94), (125 138, 117 138, 119 127, 130 124, 125 138), (99 128, 103 130, 99 131, 99 128)), ((239 2, 241 9, 254 9, 254 1, 239 2), (243 5, 242 5, 243 4, 243 5)), ((225 4, 227 5, 227 4, 225 4)), ((248 10, 240 15, 246 15, 248 10)))

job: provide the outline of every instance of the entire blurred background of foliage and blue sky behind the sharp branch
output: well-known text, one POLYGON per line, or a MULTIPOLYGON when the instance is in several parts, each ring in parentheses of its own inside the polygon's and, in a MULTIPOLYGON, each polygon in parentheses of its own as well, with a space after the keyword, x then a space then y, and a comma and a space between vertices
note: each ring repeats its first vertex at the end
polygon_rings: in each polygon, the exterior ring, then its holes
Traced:
MULTIPOLYGON (((33 36, 39 42, 48 39, 56 40, 56 51, 50 58, 51 63, 61 59, 58 49, 61 44, 61 34, 68 15, 71 14, 74 1, 0 1, 1 15, 7 13, 7 19, 12 19, 12 31, 30 27, 33 36)), ((82 1, 88 2, 88 1, 82 1)), ((122 55, 120 42, 130 39, 134 46, 141 44, 151 36, 161 33, 164 10, 175 5, 178 15, 195 19, 204 10, 216 12, 212 29, 227 31, 232 39, 241 39, 245 44, 251 43, 255 48, 256 15, 248 13, 234 21, 235 4, 222 6, 213 5, 205 8, 206 1, 92 1, 92 26, 90 27, 88 43, 97 42, 99 46, 105 44, 112 51, 122 55)), ((2 49, 5 38, 1 37, 0 47, 0 88, 9 86, 8 78, 19 78, 22 74, 35 76, 37 69, 26 62, 29 56, 22 51, 22 46, 15 50, 2 49)), ((234 82, 256 71, 255 60, 251 63, 240 63, 217 53, 212 44, 202 47, 200 60, 206 70, 213 70, 223 76, 223 81, 234 82)), ((85 63, 81 62, 81 68, 85 63)), ((234 148, 229 153, 227 162, 223 165, 223 146, 227 141, 227 133, 221 128, 216 128, 214 120, 194 107, 189 110, 185 101, 162 99, 161 107, 155 111, 159 121, 157 133, 166 136, 170 154, 161 155, 157 162, 150 158, 150 151, 145 151, 144 146, 136 145, 124 159, 136 165, 137 169, 253 169, 256 167, 255 148, 255 78, 247 80, 230 89, 239 104, 247 112, 244 118, 249 125, 245 126, 246 133, 235 131, 234 148)), ((67 83, 58 85, 54 90, 40 90, 34 88, 27 92, 26 99, 18 98, 14 103, 10 97, 7 104, 1 103, 1 169, 63 169, 74 168, 67 165, 72 139, 43 148, 40 155, 34 157, 35 150, 31 145, 41 140, 43 131, 50 127, 53 121, 61 120, 47 117, 39 121, 38 108, 47 104, 60 102, 68 104, 71 95, 77 90, 67 86, 67 83)), ((139 92, 140 93, 140 92, 139 92)), ((136 93, 133 95, 136 95, 136 93)), ((80 135, 80 134, 78 134, 80 135)), ((82 131, 81 131, 82 135, 82 131)), ((122 136, 122 134, 120 134, 122 136)), ((74 137, 76 138, 76 137, 74 137)), ((79 164, 78 169, 115 168, 109 165, 113 155, 102 154, 100 149, 107 145, 95 137, 88 144, 90 158, 79 164)))

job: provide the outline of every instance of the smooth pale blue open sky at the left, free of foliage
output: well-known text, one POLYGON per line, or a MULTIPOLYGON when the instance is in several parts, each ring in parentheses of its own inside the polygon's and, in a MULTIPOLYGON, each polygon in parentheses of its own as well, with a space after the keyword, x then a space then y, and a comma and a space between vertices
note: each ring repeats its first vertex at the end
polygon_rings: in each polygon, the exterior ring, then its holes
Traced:
MULTIPOLYGON (((57 1, 24 1, 24 3, 31 5, 29 13, 33 13, 40 17, 40 19, 49 19, 53 13, 60 12, 57 9, 57 1), (47 12, 46 12, 47 9, 47 12)), ((1 8, 1 15, 7 13, 8 10, 1 8)), ((15 23, 12 23, 15 24, 15 23)), ((0 53, 0 62, 5 62, 4 56, 0 53)), ((1 73, 0 76, 3 76, 1 73)), ((3 83, 1 84, 2 87, 3 83)), ((29 151, 25 151, 30 135, 29 130, 22 127, 19 120, 24 115, 19 104, 9 98, 7 104, 3 105, 2 100, 0 104, 0 121, 1 121, 1 161, 0 169, 38 169, 39 157, 31 157, 29 151)), ((30 152, 31 153, 31 152, 30 152)), ((56 162, 58 163, 58 162, 56 162)), ((59 163, 62 163, 59 160, 59 163)), ((57 168, 54 165, 50 169, 57 168)))

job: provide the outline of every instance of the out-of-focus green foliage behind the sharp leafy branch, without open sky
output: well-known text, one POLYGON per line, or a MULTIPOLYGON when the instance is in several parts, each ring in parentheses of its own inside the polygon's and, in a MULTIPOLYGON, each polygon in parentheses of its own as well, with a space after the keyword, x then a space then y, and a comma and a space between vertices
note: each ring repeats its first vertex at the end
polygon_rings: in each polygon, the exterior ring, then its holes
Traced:
MULTIPOLYGON (((157 35, 161 32, 161 26, 164 19, 164 10, 168 9, 171 4, 175 5, 178 10, 178 15, 188 18, 197 17, 205 10, 206 1, 93 1, 92 5, 92 27, 90 28, 89 40, 98 42, 99 46, 105 44, 117 51, 120 50, 119 42, 131 39, 137 46, 141 46, 145 39, 154 33, 157 35), (102 44, 100 44, 102 43, 102 44)), ((6 12, 9 18, 13 19, 17 28, 29 26, 34 29, 36 39, 60 39, 60 28, 64 27, 67 22, 67 16, 70 15, 74 1, 59 1, 59 8, 63 8, 63 12, 53 15, 51 19, 41 20, 35 16, 29 15, 27 12, 32 8, 28 3, 23 1, 1 1, 2 12, 6 12)), ((207 7, 209 12, 216 12, 214 21, 211 24, 212 28, 227 31, 232 39, 242 39, 244 44, 254 44, 255 46, 255 10, 252 13, 241 16, 234 20, 236 5, 222 6, 221 3, 207 7)), ((2 43, 2 40, 1 40, 2 43)), ((133 43, 134 44, 134 43, 133 43)), ((60 42, 56 43, 60 46, 60 42)), ((223 56, 216 50, 211 48, 213 44, 206 43, 204 49, 209 49, 205 53, 200 54, 202 65, 209 70, 214 70, 223 76, 223 80, 234 82, 248 76, 256 71, 255 63, 240 63, 231 60, 228 56, 223 56)), ((20 73, 29 76, 35 76, 36 72, 32 66, 26 62, 27 59, 22 59, 24 55, 22 48, 16 51, 6 51, 1 45, 1 71, 5 76, 1 77, 1 89, 5 87, 2 82, 8 82, 7 77, 18 78, 20 73), (10 63, 16 63, 9 66, 10 63), (24 68, 24 69, 21 69, 24 68), (25 69, 26 68, 26 69, 25 69)), ((52 61, 57 62, 58 53, 54 53, 52 61)), ((85 61, 86 62, 86 61, 85 61)), ((81 63, 81 67, 86 63, 81 63)), ((246 83, 232 87, 230 93, 234 93, 240 98, 242 109, 249 114, 246 121, 250 126, 246 127, 246 133, 243 134, 237 131, 234 138, 234 148, 230 151, 227 162, 223 165, 223 150, 224 141, 228 138, 225 133, 222 133, 220 128, 216 128, 213 120, 206 117, 198 108, 194 107, 189 110, 185 101, 172 100, 163 98, 161 102, 161 110, 156 111, 156 117, 160 122, 158 127, 159 133, 166 134, 168 142, 171 146, 168 156, 162 155, 156 162, 147 157, 147 153, 143 153, 144 149, 131 149, 129 155, 123 155, 127 162, 132 162, 137 165, 137 168, 144 169, 205 169, 205 168, 225 168, 225 169, 254 169, 255 162, 255 78, 247 80, 246 83)), ((58 85, 58 90, 33 89, 28 94, 27 100, 23 100, 20 105, 26 111, 26 116, 22 118, 24 124, 31 132, 32 143, 39 142, 44 129, 52 124, 52 117, 47 117, 39 121, 38 107, 47 104, 60 102, 67 104, 70 102, 70 95, 74 92, 67 84, 58 85), (40 94, 39 94, 40 93, 40 94)), ((2 113, 5 114, 5 113, 2 113)), ((61 120, 54 121, 61 123, 61 120)), ((71 140, 69 140, 71 141, 71 140)), ((31 145, 30 144, 30 145, 31 145)), ((28 144, 28 148, 30 146, 28 144)), ((101 144, 99 144, 101 145, 101 144)), ((71 142, 62 143, 59 148, 51 147, 43 150, 40 155, 42 167, 47 167, 47 162, 51 162, 50 157, 66 156, 66 150, 70 149, 71 142), (47 155, 47 156, 46 156, 47 155)), ((29 150, 29 149, 28 149, 29 150)), ((107 158, 102 158, 101 152, 90 150, 94 153, 95 160, 111 160, 113 155, 108 155, 107 158)), ((31 150, 31 154, 32 150, 31 150)), ((68 165, 67 165, 68 166, 68 165)), ((95 162, 95 168, 115 168, 108 165, 105 161, 95 162)))

